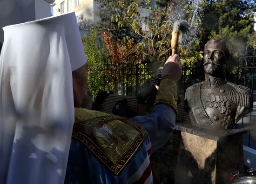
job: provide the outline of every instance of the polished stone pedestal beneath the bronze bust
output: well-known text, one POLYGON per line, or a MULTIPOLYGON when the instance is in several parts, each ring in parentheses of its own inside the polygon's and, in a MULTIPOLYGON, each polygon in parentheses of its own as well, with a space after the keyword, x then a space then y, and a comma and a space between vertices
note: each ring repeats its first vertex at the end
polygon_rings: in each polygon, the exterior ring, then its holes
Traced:
POLYGON ((191 124, 178 124, 181 142, 175 184, 227 184, 231 172, 243 172, 243 133, 252 126, 211 131, 191 124))

